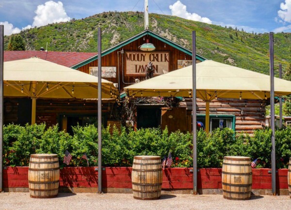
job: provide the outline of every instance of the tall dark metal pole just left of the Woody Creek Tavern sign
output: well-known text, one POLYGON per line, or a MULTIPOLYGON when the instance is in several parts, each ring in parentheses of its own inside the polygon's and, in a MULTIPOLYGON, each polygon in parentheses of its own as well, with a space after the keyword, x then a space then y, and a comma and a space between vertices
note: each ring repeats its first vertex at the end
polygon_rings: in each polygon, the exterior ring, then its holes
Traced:
POLYGON ((98 28, 98 193, 102 193, 102 128, 101 128, 101 28, 98 28))

